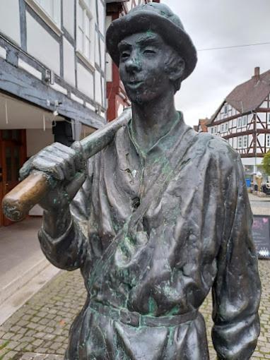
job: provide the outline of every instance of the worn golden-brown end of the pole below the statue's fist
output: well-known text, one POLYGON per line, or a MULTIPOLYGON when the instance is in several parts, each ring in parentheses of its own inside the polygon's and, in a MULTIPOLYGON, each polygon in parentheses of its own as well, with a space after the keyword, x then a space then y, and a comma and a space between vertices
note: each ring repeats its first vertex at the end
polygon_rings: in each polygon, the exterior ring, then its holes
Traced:
POLYGON ((4 215, 12 221, 23 220, 45 196, 47 189, 47 176, 42 172, 32 172, 3 198, 4 215))

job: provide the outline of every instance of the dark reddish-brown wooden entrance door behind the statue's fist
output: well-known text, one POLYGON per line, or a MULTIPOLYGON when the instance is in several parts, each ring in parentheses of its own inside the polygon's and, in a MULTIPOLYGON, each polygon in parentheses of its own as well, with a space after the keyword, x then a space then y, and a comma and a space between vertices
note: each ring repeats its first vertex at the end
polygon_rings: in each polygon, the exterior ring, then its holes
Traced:
MULTIPOLYGON (((25 130, 0 130, 0 200, 18 184, 26 160, 25 130)), ((12 224, 0 210, 0 226, 12 224)))

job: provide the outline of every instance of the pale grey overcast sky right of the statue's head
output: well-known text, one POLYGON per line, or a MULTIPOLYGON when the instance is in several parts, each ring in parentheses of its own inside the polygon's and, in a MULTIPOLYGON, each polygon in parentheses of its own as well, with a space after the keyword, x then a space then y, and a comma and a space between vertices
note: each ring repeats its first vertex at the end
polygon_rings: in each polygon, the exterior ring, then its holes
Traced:
MULTIPOLYGON (((270 0, 161 0, 180 16, 197 50, 270 42, 270 0)), ((198 64, 175 96, 189 125, 210 117, 259 66, 270 69, 270 44, 199 51, 198 64)))

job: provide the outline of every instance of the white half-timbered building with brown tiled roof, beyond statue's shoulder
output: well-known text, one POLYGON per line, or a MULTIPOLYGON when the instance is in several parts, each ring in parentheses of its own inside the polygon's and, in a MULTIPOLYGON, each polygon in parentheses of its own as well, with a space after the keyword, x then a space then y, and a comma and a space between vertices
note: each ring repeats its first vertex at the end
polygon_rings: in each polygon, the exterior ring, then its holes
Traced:
POLYGON ((270 150, 270 70, 254 69, 250 80, 238 85, 218 107, 207 125, 237 150, 250 174, 257 172, 270 150))

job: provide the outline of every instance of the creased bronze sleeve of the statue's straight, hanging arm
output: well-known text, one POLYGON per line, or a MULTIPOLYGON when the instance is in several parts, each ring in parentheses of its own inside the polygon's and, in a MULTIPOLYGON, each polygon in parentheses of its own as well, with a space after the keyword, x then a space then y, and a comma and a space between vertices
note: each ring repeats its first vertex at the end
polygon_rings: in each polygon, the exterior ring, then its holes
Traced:
POLYGON ((233 181, 225 199, 230 206, 213 285, 212 339, 218 359, 246 360, 252 356, 259 337, 261 286, 252 240, 252 212, 240 158, 234 159, 233 164, 233 181), (232 196, 237 200, 230 202, 232 196))

